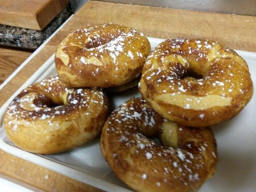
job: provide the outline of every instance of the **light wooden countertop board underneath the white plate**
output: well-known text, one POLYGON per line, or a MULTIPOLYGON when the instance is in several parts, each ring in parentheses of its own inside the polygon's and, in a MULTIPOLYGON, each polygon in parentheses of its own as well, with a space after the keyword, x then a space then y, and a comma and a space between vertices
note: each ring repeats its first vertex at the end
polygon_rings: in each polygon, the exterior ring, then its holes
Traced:
MULTIPOLYGON (((0 106, 55 52, 56 46, 66 35, 79 27, 98 23, 116 23, 137 27, 146 36, 158 38, 184 36, 215 39, 234 49, 256 52, 256 17, 254 16, 88 1, 56 36, 0 90, 0 106)), ((0 76, 1 73, 2 71, 0 76)), ((3 151, 0 151, 0 157, 1 174, 38 189, 55 192, 100 191, 3 151)))

